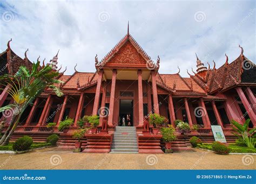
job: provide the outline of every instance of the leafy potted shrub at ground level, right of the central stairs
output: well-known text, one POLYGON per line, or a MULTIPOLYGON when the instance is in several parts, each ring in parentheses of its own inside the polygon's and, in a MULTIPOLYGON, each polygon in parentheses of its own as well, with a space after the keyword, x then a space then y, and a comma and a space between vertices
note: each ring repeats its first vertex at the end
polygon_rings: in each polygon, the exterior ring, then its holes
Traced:
POLYGON ((177 137, 174 135, 175 129, 172 125, 168 125, 168 127, 161 128, 161 135, 163 136, 163 139, 165 141, 165 148, 170 150, 171 144, 173 140, 176 140, 177 137))

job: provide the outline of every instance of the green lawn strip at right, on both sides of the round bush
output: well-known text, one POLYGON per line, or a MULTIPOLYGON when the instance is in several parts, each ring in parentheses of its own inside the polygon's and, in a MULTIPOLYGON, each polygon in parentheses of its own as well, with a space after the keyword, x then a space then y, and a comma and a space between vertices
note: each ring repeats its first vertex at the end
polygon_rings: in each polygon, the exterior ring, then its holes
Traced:
MULTIPOLYGON (((211 144, 198 144, 197 147, 204 148, 206 150, 212 150, 211 144)), ((228 145, 228 148, 230 148, 230 153, 256 153, 256 148, 248 148, 244 146, 237 146, 235 144, 228 145)))

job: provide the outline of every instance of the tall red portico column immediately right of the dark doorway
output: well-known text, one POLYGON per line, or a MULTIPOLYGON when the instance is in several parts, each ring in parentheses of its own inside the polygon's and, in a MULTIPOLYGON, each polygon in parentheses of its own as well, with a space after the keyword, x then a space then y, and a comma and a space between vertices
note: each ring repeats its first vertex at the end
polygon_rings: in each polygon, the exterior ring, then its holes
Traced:
POLYGON ((139 125, 143 125, 142 70, 138 70, 138 106, 139 106, 139 125))

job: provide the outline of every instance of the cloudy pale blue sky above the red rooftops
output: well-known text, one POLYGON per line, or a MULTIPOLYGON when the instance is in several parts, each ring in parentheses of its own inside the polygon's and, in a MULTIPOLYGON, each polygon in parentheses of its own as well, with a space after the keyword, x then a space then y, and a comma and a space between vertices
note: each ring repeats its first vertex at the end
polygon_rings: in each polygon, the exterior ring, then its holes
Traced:
MULTIPOLYGON (((205 65, 220 67, 240 54, 255 63, 254 1, 0 1, 0 52, 12 38, 12 50, 36 61, 49 61, 58 49, 59 65, 95 72, 101 60, 127 32, 153 60, 160 73, 196 69, 197 52, 205 65)), ((192 72, 190 72, 192 73, 192 72)))

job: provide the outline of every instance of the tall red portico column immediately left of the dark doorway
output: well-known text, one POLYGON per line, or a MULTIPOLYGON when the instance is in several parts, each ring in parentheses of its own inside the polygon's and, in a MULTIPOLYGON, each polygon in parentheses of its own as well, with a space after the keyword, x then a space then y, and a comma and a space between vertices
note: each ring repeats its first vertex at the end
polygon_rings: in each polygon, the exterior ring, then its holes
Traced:
POLYGON ((114 93, 116 89, 116 77, 117 70, 114 69, 112 72, 112 83, 111 83, 111 91, 110 91, 110 102, 109 102, 109 121, 107 124, 113 125, 113 114, 114 114, 114 93))

